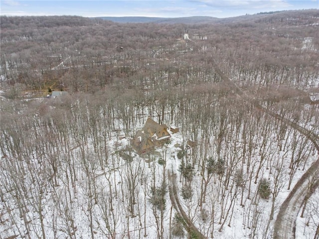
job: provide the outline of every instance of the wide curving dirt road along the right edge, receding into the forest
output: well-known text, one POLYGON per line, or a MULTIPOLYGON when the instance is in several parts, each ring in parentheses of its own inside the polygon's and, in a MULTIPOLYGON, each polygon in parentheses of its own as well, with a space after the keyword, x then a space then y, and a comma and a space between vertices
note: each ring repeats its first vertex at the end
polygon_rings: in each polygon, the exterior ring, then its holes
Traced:
MULTIPOLYGON (((285 119, 280 115, 273 113, 267 109, 261 107, 253 99, 247 96, 240 88, 238 88, 223 72, 218 68, 216 62, 214 62, 214 68, 216 73, 221 77, 221 79, 235 90, 235 93, 241 97, 244 101, 253 104, 258 110, 274 117, 275 119, 281 120, 287 125, 293 127, 301 134, 305 135, 316 147, 319 154, 319 136, 314 132, 285 119)), ((277 219, 274 226, 274 239, 295 239, 296 238, 296 219, 298 214, 305 202, 306 196, 311 197, 312 193, 319 187, 319 158, 312 166, 306 171, 306 173, 297 182, 293 190, 290 192, 289 196, 285 202, 281 205, 277 219), (309 189, 309 182, 311 179, 317 178, 313 182, 311 190, 309 189)))

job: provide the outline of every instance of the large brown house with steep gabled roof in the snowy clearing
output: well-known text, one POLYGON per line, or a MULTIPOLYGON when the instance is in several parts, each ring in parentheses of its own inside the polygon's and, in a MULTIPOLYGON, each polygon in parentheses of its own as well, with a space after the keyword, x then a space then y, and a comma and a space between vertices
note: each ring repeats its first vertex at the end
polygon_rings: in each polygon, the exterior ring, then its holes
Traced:
POLYGON ((137 153, 143 154, 162 146, 170 138, 166 124, 159 124, 153 119, 146 120, 143 130, 138 130, 131 140, 132 147, 137 153))

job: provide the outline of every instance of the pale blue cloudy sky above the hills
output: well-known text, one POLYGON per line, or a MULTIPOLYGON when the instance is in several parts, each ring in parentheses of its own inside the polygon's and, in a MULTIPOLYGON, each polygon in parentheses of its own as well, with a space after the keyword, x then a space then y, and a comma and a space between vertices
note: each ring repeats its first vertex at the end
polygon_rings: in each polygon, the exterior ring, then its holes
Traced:
POLYGON ((319 0, 0 0, 1 15, 214 16, 319 9, 319 0))

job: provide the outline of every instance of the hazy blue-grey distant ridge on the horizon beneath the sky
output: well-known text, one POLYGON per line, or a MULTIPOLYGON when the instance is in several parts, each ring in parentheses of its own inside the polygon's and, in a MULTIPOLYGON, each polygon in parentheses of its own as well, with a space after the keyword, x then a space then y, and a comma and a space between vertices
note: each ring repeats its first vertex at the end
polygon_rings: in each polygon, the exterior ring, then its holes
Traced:
POLYGON ((211 16, 187 16, 187 17, 146 17, 146 16, 101 16, 94 17, 119 23, 208 23, 218 18, 211 16))

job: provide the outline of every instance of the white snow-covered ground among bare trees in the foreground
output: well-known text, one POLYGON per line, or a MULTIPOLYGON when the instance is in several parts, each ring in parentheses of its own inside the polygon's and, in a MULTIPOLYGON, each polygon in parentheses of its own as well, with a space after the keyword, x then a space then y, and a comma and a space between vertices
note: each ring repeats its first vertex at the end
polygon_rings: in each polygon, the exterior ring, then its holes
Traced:
MULTIPOLYGON (((142 127, 141 122, 136 128, 142 127)), ((22 161, 14 157, 8 160, 9 154, 3 157, 0 174, 2 237, 16 235, 21 238, 21 235, 25 235, 36 238, 45 234, 46 238, 139 238, 146 235, 146 238, 156 239, 161 232, 164 238, 169 238, 169 228, 175 212, 168 192, 164 194, 163 211, 152 203, 154 190, 160 189, 163 182, 167 185, 168 172, 177 175, 179 201, 195 227, 207 238, 271 237, 280 205, 289 194, 287 186, 290 169, 278 168, 278 162, 282 161, 284 165, 290 162, 292 155, 289 148, 277 153, 277 149, 273 148, 276 148, 277 143, 268 141, 267 148, 273 153, 269 154, 271 158, 268 161, 262 163, 259 159, 263 142, 257 142, 249 159, 254 165, 246 171, 247 161, 242 163, 242 159, 238 157, 242 151, 241 144, 238 143, 239 147, 236 148, 236 143, 226 138, 221 153, 227 163, 226 171, 222 178, 218 175, 211 176, 207 184, 206 200, 200 209, 203 177, 198 165, 204 162, 203 155, 200 151, 195 152, 192 147, 186 147, 189 135, 185 130, 181 128, 180 132, 171 134, 168 144, 158 148, 156 153, 144 156, 127 151, 130 138, 120 139, 119 135, 123 134, 123 131, 114 132, 112 139, 107 140, 107 157, 99 155, 103 151, 99 150, 104 147, 103 137, 100 142, 88 138, 87 142, 83 139, 83 144, 76 145, 76 139, 71 135, 70 140, 74 142, 74 147, 69 149, 57 148, 48 143, 43 155, 37 156, 34 152, 32 156, 25 155, 22 161), (96 143, 98 145, 95 147, 101 147, 100 149, 94 147, 96 143), (182 160, 177 157, 177 153, 182 148, 185 149, 184 163, 195 162, 190 181, 183 178, 179 171, 182 160), (121 157, 119 151, 131 155, 132 162, 121 157), (50 170, 54 162, 52 160, 56 160, 59 165, 57 185, 53 184, 52 178, 48 178, 54 177, 50 170), (228 188, 225 187, 227 168, 232 162, 237 165, 233 167, 234 170, 244 167, 243 188, 235 185, 233 176, 230 177, 228 188), (259 178, 269 179, 271 185, 274 185, 275 175, 279 175, 281 180, 273 220, 269 220, 272 197, 261 199, 257 193, 258 184, 254 183, 259 164, 259 178), (251 184, 250 177, 253 178, 251 184), (186 184, 191 186, 192 196, 183 199, 182 189, 186 184), (21 195, 25 198, 21 198, 21 195)), ((198 138, 200 135, 201 133, 198 138)), ((205 151, 204 148, 201 150, 205 151)), ((217 156, 216 141, 211 141, 207 154, 207 158, 217 156)), ((305 169, 314 160, 315 156, 310 155, 305 169)), ((291 188, 305 172, 303 166, 304 164, 300 164, 295 172, 291 188)), ((205 172, 206 180, 207 177, 205 172)), ((314 197, 318 197, 316 195, 314 197)), ((311 202, 315 202, 313 198, 311 202)), ((318 204, 309 204, 308 216, 298 222, 310 219, 312 205, 318 204)), ((313 217, 318 217, 318 214, 313 217)), ((313 221, 307 227, 298 228, 299 235, 302 235, 300 238, 311 238, 314 235, 316 221, 313 221)), ((301 225, 305 225, 305 221, 302 223, 301 225)), ((186 231, 184 235, 186 238, 186 231)))

